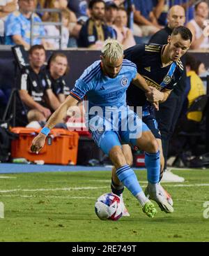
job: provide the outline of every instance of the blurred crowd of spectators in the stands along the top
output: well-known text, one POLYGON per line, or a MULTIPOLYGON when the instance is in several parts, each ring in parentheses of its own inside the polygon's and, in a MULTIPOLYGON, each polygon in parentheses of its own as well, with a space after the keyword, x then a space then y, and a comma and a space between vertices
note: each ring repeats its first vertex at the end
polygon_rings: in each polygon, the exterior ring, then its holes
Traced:
POLYGON ((1 0, 0 43, 100 50, 110 37, 126 49, 147 43, 169 19, 185 19, 191 49, 208 49, 208 10, 208 1, 195 0, 1 0), (169 11, 175 5, 184 8, 181 17, 169 11))

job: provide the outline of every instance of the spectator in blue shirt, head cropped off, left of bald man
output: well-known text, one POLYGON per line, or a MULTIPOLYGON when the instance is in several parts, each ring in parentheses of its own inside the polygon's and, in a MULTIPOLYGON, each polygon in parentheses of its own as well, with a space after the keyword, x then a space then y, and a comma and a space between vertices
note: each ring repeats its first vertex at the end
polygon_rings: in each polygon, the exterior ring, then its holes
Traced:
POLYGON ((152 1, 134 0, 134 5, 134 35, 151 36, 162 29, 153 13, 152 1))

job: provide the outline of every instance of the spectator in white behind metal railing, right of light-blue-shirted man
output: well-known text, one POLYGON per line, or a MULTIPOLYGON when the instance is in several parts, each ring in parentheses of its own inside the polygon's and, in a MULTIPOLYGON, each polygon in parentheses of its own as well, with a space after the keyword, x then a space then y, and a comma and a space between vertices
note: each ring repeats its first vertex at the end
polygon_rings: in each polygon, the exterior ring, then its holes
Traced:
MULTIPOLYGON (((52 13, 54 15, 49 15, 50 22, 59 22, 58 13, 52 13)), ((70 25, 70 10, 68 8, 62 10, 62 38, 61 38, 61 49, 68 48, 68 40, 69 40, 69 25, 70 25)), ((57 36, 57 38, 46 38, 45 41, 49 43, 50 47, 54 50, 60 48, 60 27, 55 26, 54 24, 45 26, 45 34, 46 36, 57 36)), ((49 48, 49 46, 48 46, 49 48)))

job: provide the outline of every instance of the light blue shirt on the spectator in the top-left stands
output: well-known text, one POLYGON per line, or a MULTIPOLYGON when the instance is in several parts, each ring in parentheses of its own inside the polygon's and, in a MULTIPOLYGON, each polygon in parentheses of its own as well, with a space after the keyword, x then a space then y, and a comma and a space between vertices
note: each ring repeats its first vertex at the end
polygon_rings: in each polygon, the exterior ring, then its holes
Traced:
MULTIPOLYGON (((34 22, 41 22, 40 17, 36 14, 33 17, 34 22)), ((27 19, 20 11, 16 10, 10 13, 5 23, 6 45, 15 45, 12 36, 20 35, 26 43, 31 43, 31 20, 27 19)), ((34 36, 44 36, 45 29, 43 26, 34 26, 34 36)), ((34 38, 32 45, 40 44, 40 38, 34 38)))

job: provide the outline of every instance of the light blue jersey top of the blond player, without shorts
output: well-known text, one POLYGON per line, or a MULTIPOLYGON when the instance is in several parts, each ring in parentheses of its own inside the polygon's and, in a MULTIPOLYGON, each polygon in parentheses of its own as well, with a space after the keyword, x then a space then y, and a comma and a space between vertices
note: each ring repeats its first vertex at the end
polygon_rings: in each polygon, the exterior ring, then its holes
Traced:
POLYGON ((85 69, 76 81, 70 95, 77 100, 88 100, 88 106, 126 106, 126 90, 130 82, 137 75, 137 66, 127 59, 123 59, 121 71, 116 78, 104 76, 101 61, 94 62, 85 69))

